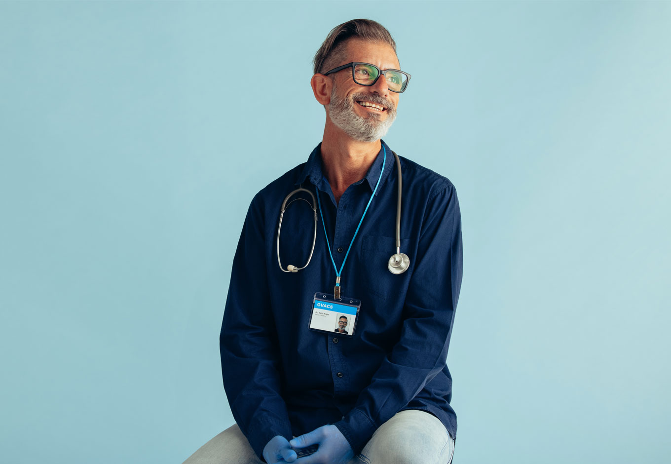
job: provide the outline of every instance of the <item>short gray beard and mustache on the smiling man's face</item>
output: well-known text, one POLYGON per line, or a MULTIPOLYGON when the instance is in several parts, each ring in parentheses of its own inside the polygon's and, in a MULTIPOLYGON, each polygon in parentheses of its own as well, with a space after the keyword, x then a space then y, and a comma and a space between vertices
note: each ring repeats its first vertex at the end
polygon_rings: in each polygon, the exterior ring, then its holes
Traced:
POLYGON ((396 109, 391 102, 370 93, 359 93, 349 98, 338 97, 335 93, 335 85, 331 91, 331 103, 329 103, 329 118, 331 122, 341 128, 350 138, 358 142, 374 142, 386 135, 391 124, 396 118, 396 109), (370 113, 368 118, 362 118, 354 112, 356 100, 368 100, 386 107, 386 119, 380 121, 380 116, 370 113))

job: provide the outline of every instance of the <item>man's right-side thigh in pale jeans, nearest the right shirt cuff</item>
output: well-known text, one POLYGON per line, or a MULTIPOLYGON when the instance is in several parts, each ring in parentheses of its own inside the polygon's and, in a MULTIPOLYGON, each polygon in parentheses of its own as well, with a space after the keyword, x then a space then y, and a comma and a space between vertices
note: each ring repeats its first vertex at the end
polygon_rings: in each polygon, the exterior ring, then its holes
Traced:
POLYGON ((437 417, 406 410, 384 422, 352 464, 448 464, 452 453, 454 440, 437 417))

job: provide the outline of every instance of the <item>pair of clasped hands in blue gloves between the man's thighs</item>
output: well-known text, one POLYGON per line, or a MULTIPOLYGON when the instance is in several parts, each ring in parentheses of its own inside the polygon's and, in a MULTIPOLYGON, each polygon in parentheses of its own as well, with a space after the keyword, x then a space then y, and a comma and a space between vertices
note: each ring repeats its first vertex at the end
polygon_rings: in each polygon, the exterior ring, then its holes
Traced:
POLYGON ((353 457, 350 443, 334 425, 321 426, 291 441, 281 435, 274 436, 263 449, 263 458, 268 464, 346 464, 353 457), (311 445, 319 445, 317 452, 299 459, 291 449, 311 445))

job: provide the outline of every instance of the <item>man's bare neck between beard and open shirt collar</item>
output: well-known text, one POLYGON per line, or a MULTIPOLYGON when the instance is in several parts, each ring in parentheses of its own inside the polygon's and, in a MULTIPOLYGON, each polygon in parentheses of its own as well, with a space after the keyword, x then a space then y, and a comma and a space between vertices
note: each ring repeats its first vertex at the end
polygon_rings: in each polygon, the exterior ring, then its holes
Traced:
POLYGON ((321 142, 324 175, 331 185, 336 203, 347 187, 363 179, 380 152, 380 140, 358 142, 340 128, 327 124, 321 142))

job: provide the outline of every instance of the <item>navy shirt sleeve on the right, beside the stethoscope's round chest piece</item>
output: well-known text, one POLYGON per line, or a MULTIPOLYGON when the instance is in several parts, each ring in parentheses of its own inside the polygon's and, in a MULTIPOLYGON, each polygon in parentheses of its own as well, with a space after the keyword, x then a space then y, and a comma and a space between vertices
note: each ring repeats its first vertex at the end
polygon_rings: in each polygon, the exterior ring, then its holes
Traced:
POLYGON ((452 184, 427 201, 401 338, 354 408, 334 425, 360 453, 377 428, 444 369, 462 281, 461 214, 452 184))

